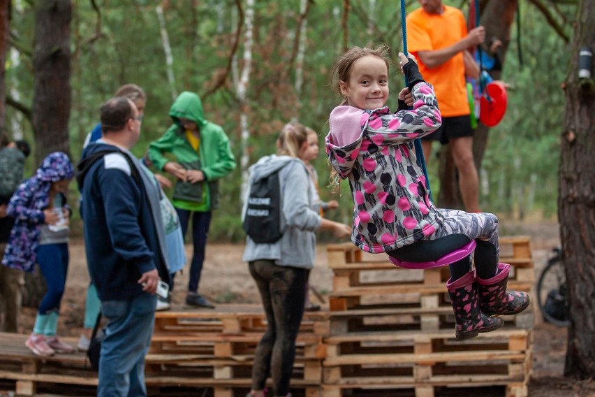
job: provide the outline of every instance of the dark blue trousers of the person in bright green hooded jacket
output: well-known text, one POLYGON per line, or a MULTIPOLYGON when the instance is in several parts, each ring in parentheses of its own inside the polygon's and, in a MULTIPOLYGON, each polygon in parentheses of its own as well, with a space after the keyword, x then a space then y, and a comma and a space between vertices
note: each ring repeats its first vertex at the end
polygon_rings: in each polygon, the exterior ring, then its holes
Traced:
POLYGON ((192 215, 192 245, 194 254, 190 264, 190 275, 188 281, 188 291, 197 292, 200 283, 200 273, 203 272, 203 263, 205 262, 205 247, 207 246, 207 236, 211 224, 212 212, 192 212, 189 210, 175 209, 179 217, 180 226, 182 226, 182 236, 186 236, 188 222, 192 215))

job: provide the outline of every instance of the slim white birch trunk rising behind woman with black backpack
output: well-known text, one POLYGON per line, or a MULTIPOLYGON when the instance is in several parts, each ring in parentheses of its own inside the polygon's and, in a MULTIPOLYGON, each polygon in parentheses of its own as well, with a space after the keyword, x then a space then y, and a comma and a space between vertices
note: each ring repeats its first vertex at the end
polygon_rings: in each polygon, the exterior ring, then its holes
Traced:
POLYGON ((242 154, 240 157, 240 171, 242 172, 242 188, 240 189, 240 199, 242 201, 247 196, 248 190, 248 164, 250 161, 249 140, 250 130, 248 128, 249 104, 247 101, 247 91, 250 82, 250 69, 252 66, 252 44, 254 34, 254 0, 246 0, 246 12, 244 17, 246 27, 246 41, 244 43, 244 66, 242 66, 242 75, 237 82, 237 99, 240 101, 240 145, 242 154))

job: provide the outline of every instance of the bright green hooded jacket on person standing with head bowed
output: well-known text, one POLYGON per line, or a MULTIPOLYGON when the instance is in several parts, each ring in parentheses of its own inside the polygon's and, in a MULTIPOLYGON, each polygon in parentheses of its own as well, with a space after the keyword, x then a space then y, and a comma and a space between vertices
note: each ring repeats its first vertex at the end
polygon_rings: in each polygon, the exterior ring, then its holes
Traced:
POLYGON ((166 133, 149 145, 149 160, 160 171, 171 161, 164 154, 170 153, 186 169, 200 170, 205 181, 191 183, 177 181, 172 202, 177 208, 190 211, 210 211, 219 207, 219 178, 235 168, 235 157, 229 147, 229 138, 223 129, 205 120, 203 103, 193 92, 184 91, 170 108, 173 124, 166 133), (179 119, 196 123, 200 133, 198 152, 186 139, 186 132, 179 119))

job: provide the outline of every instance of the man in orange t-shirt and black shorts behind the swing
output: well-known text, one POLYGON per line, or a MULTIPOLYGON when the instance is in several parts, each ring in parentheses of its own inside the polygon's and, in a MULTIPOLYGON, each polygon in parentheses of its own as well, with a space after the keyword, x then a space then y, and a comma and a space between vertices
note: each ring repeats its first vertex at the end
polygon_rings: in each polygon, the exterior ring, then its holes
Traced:
POLYGON ((463 13, 441 0, 419 0, 421 8, 407 16, 409 52, 419 59, 420 72, 434 85, 442 126, 422 138, 425 159, 432 154, 432 140, 449 143, 459 171, 459 189, 467 212, 480 212, 479 178, 473 162, 473 129, 465 76, 479 77, 470 47, 483 43, 484 27, 467 32, 463 13))

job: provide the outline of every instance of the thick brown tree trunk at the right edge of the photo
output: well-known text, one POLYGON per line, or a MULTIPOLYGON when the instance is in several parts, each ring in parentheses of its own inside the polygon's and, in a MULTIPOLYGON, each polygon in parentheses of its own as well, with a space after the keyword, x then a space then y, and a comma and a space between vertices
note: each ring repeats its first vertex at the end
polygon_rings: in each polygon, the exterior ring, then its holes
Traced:
POLYGON ((562 133, 558 218, 570 301, 564 373, 595 377, 595 80, 578 78, 580 48, 595 50, 595 0, 578 6, 568 57, 566 117, 562 133))

